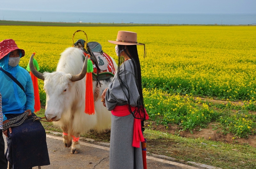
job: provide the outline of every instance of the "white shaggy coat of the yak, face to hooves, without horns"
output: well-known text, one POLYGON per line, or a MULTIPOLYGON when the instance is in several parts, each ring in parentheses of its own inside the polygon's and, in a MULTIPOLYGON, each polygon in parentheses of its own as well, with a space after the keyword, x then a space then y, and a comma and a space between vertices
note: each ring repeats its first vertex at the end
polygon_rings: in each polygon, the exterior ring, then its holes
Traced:
MULTIPOLYGON (((100 81, 100 95, 94 102, 95 114, 84 113, 85 107, 85 79, 86 76, 76 82, 70 81, 71 74, 79 74, 83 67, 83 52, 80 49, 69 47, 61 53, 56 71, 53 73, 44 72, 44 89, 46 93, 45 116, 53 119, 53 124, 62 128, 68 133, 63 135, 65 146, 69 147, 72 136, 79 137, 80 134, 89 130, 103 132, 108 130, 111 124, 111 112, 103 106, 101 94, 113 78, 100 81)), ((112 59, 113 60, 113 59, 112 59)), ((115 69, 116 62, 113 60, 115 69)), ((93 91, 96 87, 93 81, 93 91)), ((79 142, 72 141, 71 153, 77 153, 80 149, 79 142)))

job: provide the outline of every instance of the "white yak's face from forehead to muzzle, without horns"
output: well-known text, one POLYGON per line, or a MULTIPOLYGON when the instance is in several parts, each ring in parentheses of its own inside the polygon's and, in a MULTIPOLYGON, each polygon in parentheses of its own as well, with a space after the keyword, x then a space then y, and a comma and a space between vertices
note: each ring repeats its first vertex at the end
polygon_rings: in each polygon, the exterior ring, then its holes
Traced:
POLYGON ((48 121, 60 120, 62 113, 70 109, 75 97, 71 75, 62 72, 44 73, 46 93, 45 116, 48 121))

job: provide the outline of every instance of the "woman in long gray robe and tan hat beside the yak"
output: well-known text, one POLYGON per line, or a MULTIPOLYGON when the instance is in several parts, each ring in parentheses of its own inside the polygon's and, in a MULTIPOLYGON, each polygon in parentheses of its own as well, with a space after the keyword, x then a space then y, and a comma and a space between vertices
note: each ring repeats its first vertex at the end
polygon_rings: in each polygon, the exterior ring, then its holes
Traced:
POLYGON ((141 124, 148 119, 144 108, 137 33, 119 31, 116 41, 118 69, 102 94, 103 105, 111 111, 109 168, 143 168, 141 124))

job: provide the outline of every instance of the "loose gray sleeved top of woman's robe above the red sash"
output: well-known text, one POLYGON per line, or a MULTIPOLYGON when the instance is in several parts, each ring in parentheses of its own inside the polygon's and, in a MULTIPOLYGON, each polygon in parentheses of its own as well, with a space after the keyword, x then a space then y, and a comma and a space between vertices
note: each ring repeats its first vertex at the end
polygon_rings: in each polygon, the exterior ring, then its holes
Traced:
MULTIPOLYGON (((130 105, 131 106, 136 106, 137 101, 140 98, 137 86, 136 86, 136 81, 134 77, 134 71, 133 71, 133 65, 132 61, 127 60, 125 61, 121 68, 120 68, 120 76, 121 79, 127 84, 129 87, 130 91, 130 105), (125 65, 124 65, 125 64, 125 65), (125 66, 125 71, 124 71, 124 66, 125 66)), ((128 95, 127 90, 125 90, 126 94, 128 95)), ((128 99, 124 95, 124 92, 120 86, 120 82, 116 75, 114 76, 113 80, 111 83, 108 85, 108 90, 105 95, 105 103, 106 107, 109 111, 113 110, 116 105, 125 105, 128 104, 128 99)))

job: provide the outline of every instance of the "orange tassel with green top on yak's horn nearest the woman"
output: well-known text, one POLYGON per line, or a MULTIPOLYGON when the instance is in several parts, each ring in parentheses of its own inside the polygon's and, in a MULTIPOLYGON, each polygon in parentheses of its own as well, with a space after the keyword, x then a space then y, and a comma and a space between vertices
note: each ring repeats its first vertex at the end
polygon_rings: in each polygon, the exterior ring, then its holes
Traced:
POLYGON ((88 54, 86 83, 85 83, 84 113, 89 114, 89 115, 95 114, 93 88, 92 88, 92 72, 93 72, 92 60, 90 59, 90 55, 88 54))

